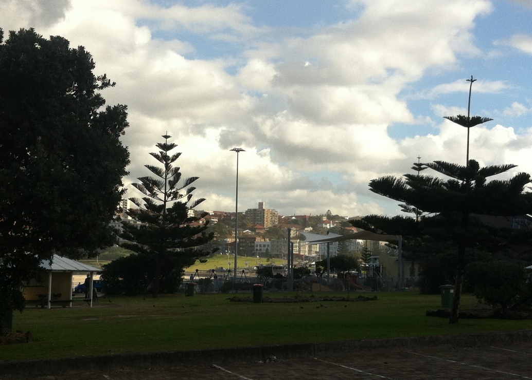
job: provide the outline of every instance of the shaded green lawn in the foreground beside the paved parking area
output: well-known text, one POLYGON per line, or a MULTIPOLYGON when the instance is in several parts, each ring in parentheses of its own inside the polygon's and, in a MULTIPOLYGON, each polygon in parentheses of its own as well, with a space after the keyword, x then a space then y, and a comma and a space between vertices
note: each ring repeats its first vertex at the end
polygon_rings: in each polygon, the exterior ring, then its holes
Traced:
MULTIPOLYGON (((331 293, 314 293, 325 295, 331 293)), ((0 360, 532 329, 532 321, 462 319, 450 325, 447 319, 426 317, 427 309, 439 308, 439 296, 365 295, 378 300, 328 302, 317 308, 320 303, 235 303, 227 300, 231 295, 179 294, 100 298, 93 308, 81 301, 73 308, 28 308, 14 315, 13 327, 31 331, 34 341, 0 346, 0 360)), ((462 304, 477 305, 470 296, 462 304)))

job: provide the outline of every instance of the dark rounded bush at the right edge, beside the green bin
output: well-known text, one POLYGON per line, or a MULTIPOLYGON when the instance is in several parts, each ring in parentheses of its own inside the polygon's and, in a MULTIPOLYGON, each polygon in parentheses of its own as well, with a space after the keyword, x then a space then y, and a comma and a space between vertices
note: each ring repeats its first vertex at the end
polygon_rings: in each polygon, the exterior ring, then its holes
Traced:
POLYGON ((488 305, 503 309, 530 307, 532 284, 523 263, 475 262, 467 266, 465 277, 473 295, 488 305))

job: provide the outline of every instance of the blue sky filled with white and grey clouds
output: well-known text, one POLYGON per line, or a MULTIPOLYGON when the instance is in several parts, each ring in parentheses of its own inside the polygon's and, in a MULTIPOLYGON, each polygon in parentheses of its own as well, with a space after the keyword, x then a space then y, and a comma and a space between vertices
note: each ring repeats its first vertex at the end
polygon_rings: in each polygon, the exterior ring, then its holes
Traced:
MULTIPOLYGON (((532 174, 532 0, 0 0, 4 31, 84 46, 128 106, 124 183, 171 135, 203 210, 400 214, 373 194, 412 163, 532 174), (232 148, 245 151, 238 155, 232 148)), ((431 174, 430 169, 423 172, 431 174)), ((435 174, 434 172, 432 174, 435 174)))

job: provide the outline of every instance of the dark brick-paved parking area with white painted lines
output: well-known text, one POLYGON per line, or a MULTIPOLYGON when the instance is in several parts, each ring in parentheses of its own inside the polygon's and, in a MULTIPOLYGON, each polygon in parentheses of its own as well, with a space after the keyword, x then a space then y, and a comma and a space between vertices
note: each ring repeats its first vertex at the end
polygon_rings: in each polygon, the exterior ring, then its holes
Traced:
MULTIPOLYGON (((372 349, 318 358, 230 362, 114 372, 32 376, 32 380, 170 379, 532 379, 532 342, 453 348, 372 349)), ((21 379, 0 374, 0 380, 21 379)))

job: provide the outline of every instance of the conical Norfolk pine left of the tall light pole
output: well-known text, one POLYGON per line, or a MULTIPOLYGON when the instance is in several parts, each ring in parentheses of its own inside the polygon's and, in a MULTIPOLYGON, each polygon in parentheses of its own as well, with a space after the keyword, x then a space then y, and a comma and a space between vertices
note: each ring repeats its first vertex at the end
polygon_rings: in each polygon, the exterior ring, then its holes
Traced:
POLYGON ((179 271, 182 272, 196 258, 212 253, 197 247, 209 243, 214 237, 214 233, 206 232, 208 222, 203 225, 196 223, 207 215, 206 212, 189 216, 188 211, 204 201, 200 198, 189 204, 195 189, 190 184, 198 177, 181 180, 180 168, 172 166, 181 153, 170 155, 177 144, 168 142, 171 136, 162 137, 164 142, 156 144, 160 151, 150 153, 162 164, 162 168, 145 165, 155 177, 140 177, 140 183, 133 184, 145 196, 142 200, 130 198, 138 209, 129 209, 127 214, 142 224, 122 222, 121 238, 126 241, 120 244, 131 251, 154 257, 150 278, 153 297, 157 297, 160 291, 162 265, 172 262, 169 257, 182 258, 182 261, 173 261, 173 265, 180 266, 179 271))

